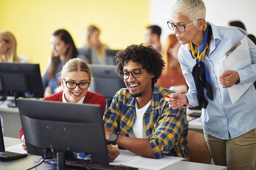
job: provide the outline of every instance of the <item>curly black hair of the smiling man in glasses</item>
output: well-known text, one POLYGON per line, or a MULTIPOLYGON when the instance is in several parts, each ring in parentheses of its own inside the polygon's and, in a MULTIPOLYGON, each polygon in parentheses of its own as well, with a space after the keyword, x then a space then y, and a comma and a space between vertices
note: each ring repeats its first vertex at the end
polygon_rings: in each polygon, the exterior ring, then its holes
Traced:
POLYGON ((162 55, 151 45, 132 44, 127 46, 124 50, 119 51, 115 55, 116 70, 119 73, 123 71, 124 66, 129 60, 143 65, 143 69, 147 68, 148 72, 155 75, 152 78, 153 82, 157 82, 162 70, 164 69, 165 61, 162 55))

